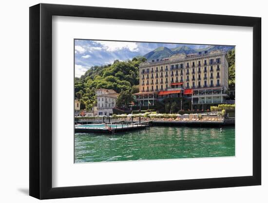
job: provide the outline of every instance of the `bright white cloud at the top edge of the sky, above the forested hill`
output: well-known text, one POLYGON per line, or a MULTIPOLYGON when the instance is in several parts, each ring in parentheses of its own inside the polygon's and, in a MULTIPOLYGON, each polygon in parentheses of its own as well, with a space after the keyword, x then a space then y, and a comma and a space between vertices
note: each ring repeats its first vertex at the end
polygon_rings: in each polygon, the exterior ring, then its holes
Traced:
POLYGON ((132 52, 137 52, 138 45, 136 42, 123 42, 123 41, 98 41, 106 51, 114 52, 121 49, 129 49, 132 52))

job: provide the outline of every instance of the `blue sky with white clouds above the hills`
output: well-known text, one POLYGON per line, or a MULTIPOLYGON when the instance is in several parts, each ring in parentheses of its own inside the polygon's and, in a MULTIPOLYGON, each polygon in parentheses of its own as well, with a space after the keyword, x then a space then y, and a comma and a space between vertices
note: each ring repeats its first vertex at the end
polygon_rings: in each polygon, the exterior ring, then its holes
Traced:
MULTIPOLYGON (((117 60, 132 59, 137 55, 145 55, 157 47, 174 48, 187 44, 75 40, 75 74, 80 77, 92 66, 111 64, 117 60)), ((208 45, 187 45, 193 49, 208 45)))

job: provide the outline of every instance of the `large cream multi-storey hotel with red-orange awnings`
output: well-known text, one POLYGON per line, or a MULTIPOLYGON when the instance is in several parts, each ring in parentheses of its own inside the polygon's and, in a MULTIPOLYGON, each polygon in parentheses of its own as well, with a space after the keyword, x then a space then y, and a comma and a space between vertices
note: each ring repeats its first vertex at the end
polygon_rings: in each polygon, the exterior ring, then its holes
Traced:
POLYGON ((183 97, 191 102, 188 109, 209 109, 226 103, 229 97, 228 57, 226 52, 215 50, 147 61, 140 64, 139 81, 135 106, 183 97))

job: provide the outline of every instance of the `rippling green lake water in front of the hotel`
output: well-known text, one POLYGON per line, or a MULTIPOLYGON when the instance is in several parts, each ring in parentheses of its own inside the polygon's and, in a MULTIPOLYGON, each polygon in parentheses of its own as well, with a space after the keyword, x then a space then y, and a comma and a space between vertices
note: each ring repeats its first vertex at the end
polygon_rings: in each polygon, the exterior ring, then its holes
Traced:
POLYGON ((232 127, 151 127, 112 134, 75 133, 75 162, 221 157, 235 155, 232 127))

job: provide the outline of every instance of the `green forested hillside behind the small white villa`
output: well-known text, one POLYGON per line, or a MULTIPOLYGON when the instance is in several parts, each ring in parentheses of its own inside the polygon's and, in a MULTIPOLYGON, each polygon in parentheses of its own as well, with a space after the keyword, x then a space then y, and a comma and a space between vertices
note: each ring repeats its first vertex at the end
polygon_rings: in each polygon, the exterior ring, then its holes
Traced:
POLYGON ((80 78, 75 78, 75 96, 81 102, 81 109, 91 110, 96 103, 95 91, 100 88, 113 89, 120 93, 138 92, 139 64, 144 57, 118 61, 105 66, 94 66, 80 78))

